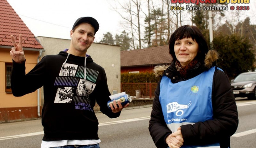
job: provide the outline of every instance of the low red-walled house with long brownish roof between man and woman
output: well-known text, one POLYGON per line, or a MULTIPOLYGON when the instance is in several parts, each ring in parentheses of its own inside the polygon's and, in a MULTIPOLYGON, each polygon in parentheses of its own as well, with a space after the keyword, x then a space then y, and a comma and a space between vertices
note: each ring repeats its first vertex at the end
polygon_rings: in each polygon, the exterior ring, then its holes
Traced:
POLYGON ((121 73, 153 72, 156 65, 168 65, 172 61, 169 46, 121 51, 121 73))

